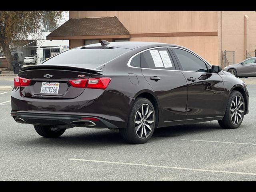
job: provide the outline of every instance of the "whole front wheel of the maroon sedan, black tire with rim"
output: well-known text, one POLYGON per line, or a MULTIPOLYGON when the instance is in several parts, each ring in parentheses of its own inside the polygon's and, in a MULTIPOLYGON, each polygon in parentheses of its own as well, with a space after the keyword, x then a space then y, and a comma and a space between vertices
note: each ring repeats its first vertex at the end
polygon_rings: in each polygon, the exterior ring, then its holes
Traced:
POLYGON ((242 94, 238 91, 232 91, 232 93, 230 94, 230 97, 228 98, 228 104, 226 107, 224 118, 222 120, 218 120, 219 125, 225 129, 238 128, 242 124, 242 121, 244 119, 244 110, 245 110, 245 103, 244 103, 244 98, 242 94), (240 102, 239 102, 239 98, 240 98, 240 102), (236 99, 237 99, 237 104, 236 104, 236 99), (236 106, 238 106, 237 109, 236 109, 236 106))

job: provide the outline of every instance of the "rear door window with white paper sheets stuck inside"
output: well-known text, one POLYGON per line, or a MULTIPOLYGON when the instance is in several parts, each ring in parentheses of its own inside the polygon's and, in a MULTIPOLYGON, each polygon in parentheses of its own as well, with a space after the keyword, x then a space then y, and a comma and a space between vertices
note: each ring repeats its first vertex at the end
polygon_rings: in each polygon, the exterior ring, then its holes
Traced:
POLYGON ((140 54, 142 68, 176 70, 167 48, 152 49, 140 54))

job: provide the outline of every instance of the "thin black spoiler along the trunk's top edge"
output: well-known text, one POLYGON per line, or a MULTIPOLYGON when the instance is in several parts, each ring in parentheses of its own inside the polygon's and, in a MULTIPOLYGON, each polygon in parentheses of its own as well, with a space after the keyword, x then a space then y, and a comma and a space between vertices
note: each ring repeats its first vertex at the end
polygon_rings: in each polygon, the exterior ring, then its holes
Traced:
POLYGON ((21 68, 21 71, 28 71, 28 70, 36 70, 36 69, 69 69, 72 71, 84 71, 84 72, 102 72, 104 73, 105 71, 102 70, 98 70, 98 69, 90 69, 90 68, 82 68, 82 67, 73 67, 73 66, 65 66, 65 65, 46 65, 46 64, 42 64, 42 65, 35 65, 35 66, 27 66, 27 67, 23 67, 21 68))

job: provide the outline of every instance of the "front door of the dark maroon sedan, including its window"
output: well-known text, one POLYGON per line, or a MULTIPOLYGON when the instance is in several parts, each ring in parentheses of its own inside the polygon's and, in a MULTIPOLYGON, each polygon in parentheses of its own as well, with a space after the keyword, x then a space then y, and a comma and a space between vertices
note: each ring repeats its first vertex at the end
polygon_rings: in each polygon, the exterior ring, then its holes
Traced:
POLYGON ((223 116, 224 83, 220 75, 210 73, 194 53, 182 48, 172 51, 188 84, 187 119, 223 116))

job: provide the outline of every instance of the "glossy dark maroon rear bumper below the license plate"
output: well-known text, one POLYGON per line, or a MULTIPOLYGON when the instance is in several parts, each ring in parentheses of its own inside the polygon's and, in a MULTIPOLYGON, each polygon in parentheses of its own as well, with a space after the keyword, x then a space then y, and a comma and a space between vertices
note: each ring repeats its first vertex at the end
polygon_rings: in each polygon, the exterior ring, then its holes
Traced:
MULTIPOLYGON (((71 125, 74 120, 98 118, 90 128, 126 128, 133 98, 107 90, 88 89, 73 99, 24 97, 20 88, 11 93, 11 115, 34 125, 71 125)), ((87 126, 86 126, 87 127, 87 126)))

